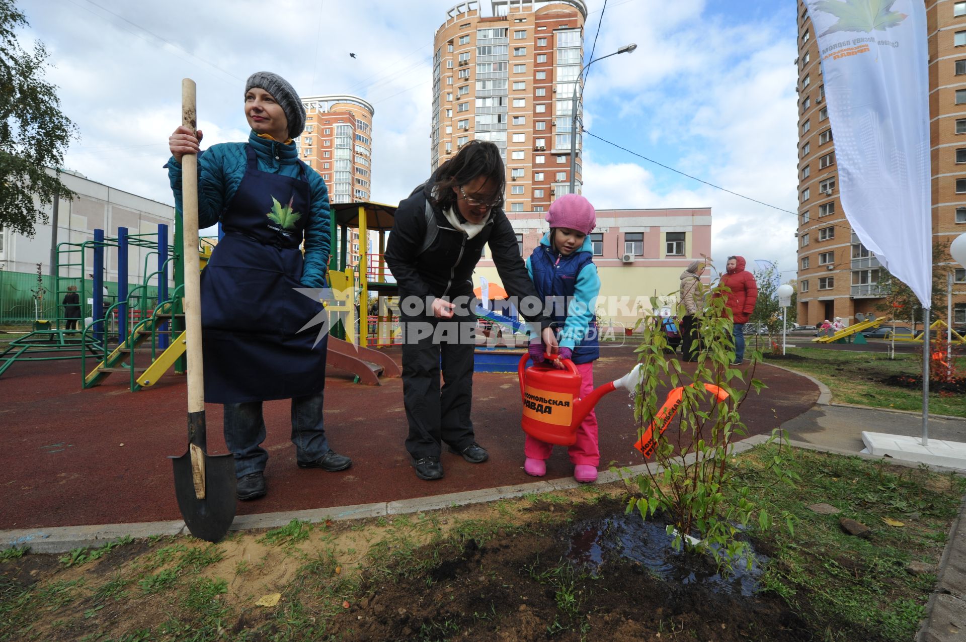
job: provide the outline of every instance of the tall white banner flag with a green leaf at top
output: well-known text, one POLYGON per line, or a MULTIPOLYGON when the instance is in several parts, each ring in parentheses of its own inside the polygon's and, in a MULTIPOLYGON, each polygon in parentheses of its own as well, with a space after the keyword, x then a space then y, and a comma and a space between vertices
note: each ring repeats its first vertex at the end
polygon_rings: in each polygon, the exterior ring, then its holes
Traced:
POLYGON ((821 77, 811 80, 825 83, 845 217, 863 245, 916 293, 923 306, 930 307, 932 214, 923 0, 805 4, 822 66, 821 77))

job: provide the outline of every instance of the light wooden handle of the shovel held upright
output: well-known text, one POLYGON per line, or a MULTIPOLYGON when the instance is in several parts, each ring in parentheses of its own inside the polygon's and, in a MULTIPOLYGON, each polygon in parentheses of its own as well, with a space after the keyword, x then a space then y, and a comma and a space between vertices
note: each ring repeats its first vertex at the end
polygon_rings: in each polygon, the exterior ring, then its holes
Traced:
MULTIPOLYGON (((182 125, 196 128, 196 87, 182 80, 182 125)), ((205 410, 205 373, 201 357, 201 266, 198 261, 198 156, 182 156, 182 236, 185 256, 185 336, 187 338, 187 411, 205 410)), ((202 435, 202 439, 204 436, 202 435)), ((195 442, 192 435, 192 442, 195 442)), ((205 447, 204 441, 198 444, 205 447)))

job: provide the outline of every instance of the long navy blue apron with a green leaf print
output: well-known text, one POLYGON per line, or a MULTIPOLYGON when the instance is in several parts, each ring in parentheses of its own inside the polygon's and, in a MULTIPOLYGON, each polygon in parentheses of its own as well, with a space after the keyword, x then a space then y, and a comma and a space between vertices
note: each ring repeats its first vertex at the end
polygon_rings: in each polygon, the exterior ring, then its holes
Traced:
POLYGON ((263 172, 246 152, 224 237, 201 273, 205 401, 216 404, 304 397, 326 382, 328 337, 315 345, 318 326, 298 332, 323 309, 295 290, 311 216, 305 166, 300 179, 263 172))

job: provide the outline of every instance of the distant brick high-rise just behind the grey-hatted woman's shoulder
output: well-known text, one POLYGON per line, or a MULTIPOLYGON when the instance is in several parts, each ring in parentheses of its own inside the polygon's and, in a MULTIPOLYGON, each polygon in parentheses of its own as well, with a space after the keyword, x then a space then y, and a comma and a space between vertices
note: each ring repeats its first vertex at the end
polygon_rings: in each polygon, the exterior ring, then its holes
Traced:
MULTIPOLYGON (((318 172, 329 203, 372 200, 372 119, 376 110, 355 96, 308 96, 305 129, 296 140, 302 160, 318 172)), ((358 230, 350 233, 347 259, 357 265, 358 230)), ((332 253, 337 252, 333 245, 332 253)))

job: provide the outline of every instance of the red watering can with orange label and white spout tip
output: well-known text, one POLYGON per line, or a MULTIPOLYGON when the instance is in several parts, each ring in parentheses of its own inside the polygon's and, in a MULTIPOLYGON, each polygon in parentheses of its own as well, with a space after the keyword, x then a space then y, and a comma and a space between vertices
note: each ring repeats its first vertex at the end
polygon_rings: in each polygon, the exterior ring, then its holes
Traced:
MULTIPOLYGON (((547 354, 547 361, 557 358, 547 354)), ((520 396, 524 402, 524 432, 547 443, 572 446, 577 427, 601 397, 617 388, 633 389, 640 381, 640 366, 616 381, 596 388, 586 399, 579 399, 581 375, 570 359, 563 359, 564 370, 541 362, 526 368, 529 354, 520 357, 520 396)))

